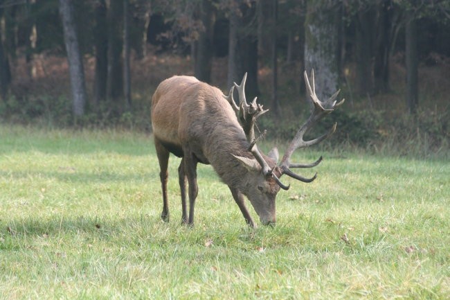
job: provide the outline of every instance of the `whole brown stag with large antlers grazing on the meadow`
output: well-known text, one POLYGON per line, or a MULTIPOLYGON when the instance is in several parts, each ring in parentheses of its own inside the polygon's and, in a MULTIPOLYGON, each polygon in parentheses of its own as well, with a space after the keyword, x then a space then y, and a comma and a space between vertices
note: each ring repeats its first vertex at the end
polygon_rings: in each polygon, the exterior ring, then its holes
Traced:
POLYGON ((336 91, 330 98, 321 101, 316 96, 314 70, 311 82, 305 71, 305 85, 312 102, 312 112, 307 121, 296 132, 285 154, 278 162, 278 149, 274 147, 267 155, 256 144, 261 136, 255 137, 255 121, 268 109, 258 103, 257 98, 246 102, 246 74, 240 85, 234 82, 228 96, 220 89, 197 80, 192 76, 173 76, 163 80, 152 96, 152 130, 154 146, 159 161, 163 211, 161 218, 169 222, 168 207, 168 161, 170 154, 181 157, 178 168, 181 191, 181 222, 194 223, 195 200, 198 195, 197 164, 210 164, 239 207, 246 224, 257 227, 246 208, 245 197, 264 225, 276 224, 276 196, 280 189, 288 190, 290 185, 280 181, 287 175, 300 182, 312 182, 317 173, 303 177, 293 168, 312 168, 321 163, 320 157, 312 164, 291 163, 291 155, 299 148, 306 148, 327 139, 336 130, 336 123, 325 134, 305 141, 303 136, 318 120, 339 107, 344 99, 336 103, 336 91), (237 89, 239 105, 233 98, 237 89), (186 184, 188 184, 189 215, 186 205, 186 184))

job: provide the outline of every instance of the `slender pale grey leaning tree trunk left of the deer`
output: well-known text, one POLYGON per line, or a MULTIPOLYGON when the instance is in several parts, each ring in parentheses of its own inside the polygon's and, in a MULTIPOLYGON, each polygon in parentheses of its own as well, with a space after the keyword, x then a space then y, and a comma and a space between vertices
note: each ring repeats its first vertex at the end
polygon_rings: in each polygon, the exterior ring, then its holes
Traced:
POLYGON ((84 86, 84 68, 80 47, 78 46, 78 36, 75 30, 75 20, 73 19, 73 3, 71 0, 60 0, 60 15, 71 76, 73 114, 75 116, 82 116, 86 103, 86 87, 84 86))

